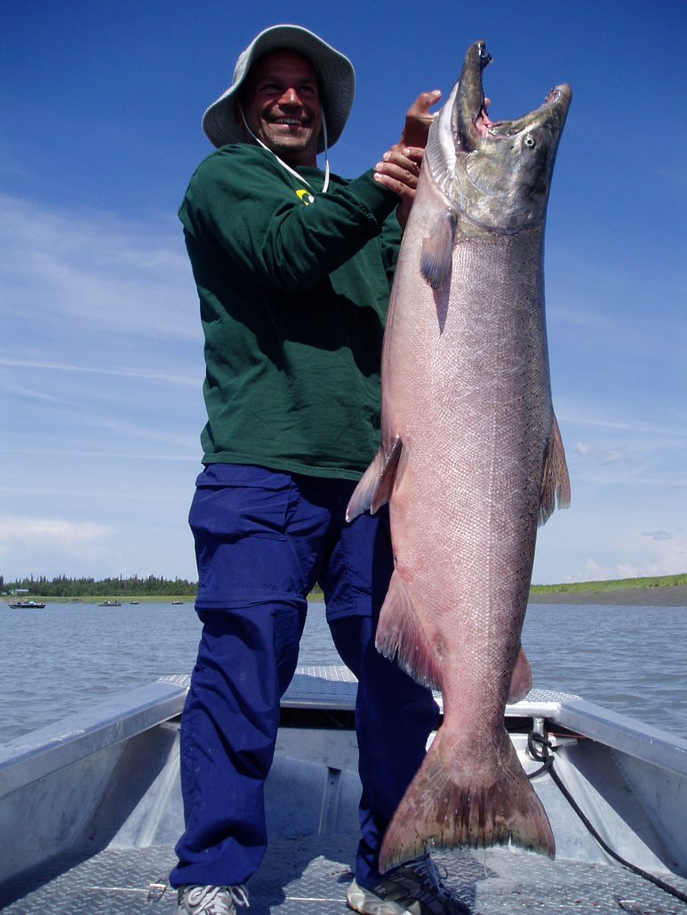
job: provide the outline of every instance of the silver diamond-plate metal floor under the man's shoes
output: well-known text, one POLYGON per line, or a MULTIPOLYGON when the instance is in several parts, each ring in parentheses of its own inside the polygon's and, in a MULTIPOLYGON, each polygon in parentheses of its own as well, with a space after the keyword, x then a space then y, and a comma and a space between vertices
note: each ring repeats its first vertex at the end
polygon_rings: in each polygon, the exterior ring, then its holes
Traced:
MULTIPOLYGON (((344 915, 355 843, 354 834, 274 842, 250 882, 250 915, 344 915)), ((678 899, 615 865, 551 862, 501 848, 435 860, 445 884, 474 915, 687 912, 678 899)), ((167 888, 160 896, 173 863, 174 853, 165 846, 109 848, 81 862, 62 858, 5 884, 0 906, 5 904, 7 915, 173 915, 174 891, 167 888)), ((667 882, 687 892, 687 880, 667 882)))

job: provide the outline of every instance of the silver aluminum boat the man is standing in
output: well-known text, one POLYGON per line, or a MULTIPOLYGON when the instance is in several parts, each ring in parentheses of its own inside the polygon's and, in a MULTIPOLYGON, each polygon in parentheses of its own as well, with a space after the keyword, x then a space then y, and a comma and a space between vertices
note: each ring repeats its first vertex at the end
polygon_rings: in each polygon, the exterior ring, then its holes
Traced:
MULTIPOLYGON (((167 875, 183 826, 188 684, 163 677, 0 747, 0 909, 174 912, 167 875)), ((300 667, 284 696, 251 915, 347 911, 354 700, 344 667, 300 667)), ((506 725, 549 814, 556 859, 510 847, 437 852, 456 898, 475 915, 687 912, 687 741, 543 691, 508 705, 506 725)))

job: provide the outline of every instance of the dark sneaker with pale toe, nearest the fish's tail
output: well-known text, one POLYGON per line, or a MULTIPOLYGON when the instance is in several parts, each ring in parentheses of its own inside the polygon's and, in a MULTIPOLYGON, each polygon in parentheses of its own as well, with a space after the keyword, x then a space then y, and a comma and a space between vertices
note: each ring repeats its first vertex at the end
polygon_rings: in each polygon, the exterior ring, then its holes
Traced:
POLYGON ((467 906, 442 886, 430 857, 390 870, 373 889, 354 880, 346 902, 363 915, 470 915, 467 906))

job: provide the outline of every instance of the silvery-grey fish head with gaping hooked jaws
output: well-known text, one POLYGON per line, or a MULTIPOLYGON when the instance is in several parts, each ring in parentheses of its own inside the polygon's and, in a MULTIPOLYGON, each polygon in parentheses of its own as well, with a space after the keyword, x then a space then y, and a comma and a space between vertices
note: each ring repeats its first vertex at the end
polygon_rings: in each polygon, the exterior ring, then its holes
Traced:
POLYGON ((570 86, 555 86, 535 111, 493 122, 482 80, 491 59, 484 41, 468 48, 460 80, 431 125, 425 153, 458 231, 469 234, 512 234, 543 224, 572 98, 570 86))

